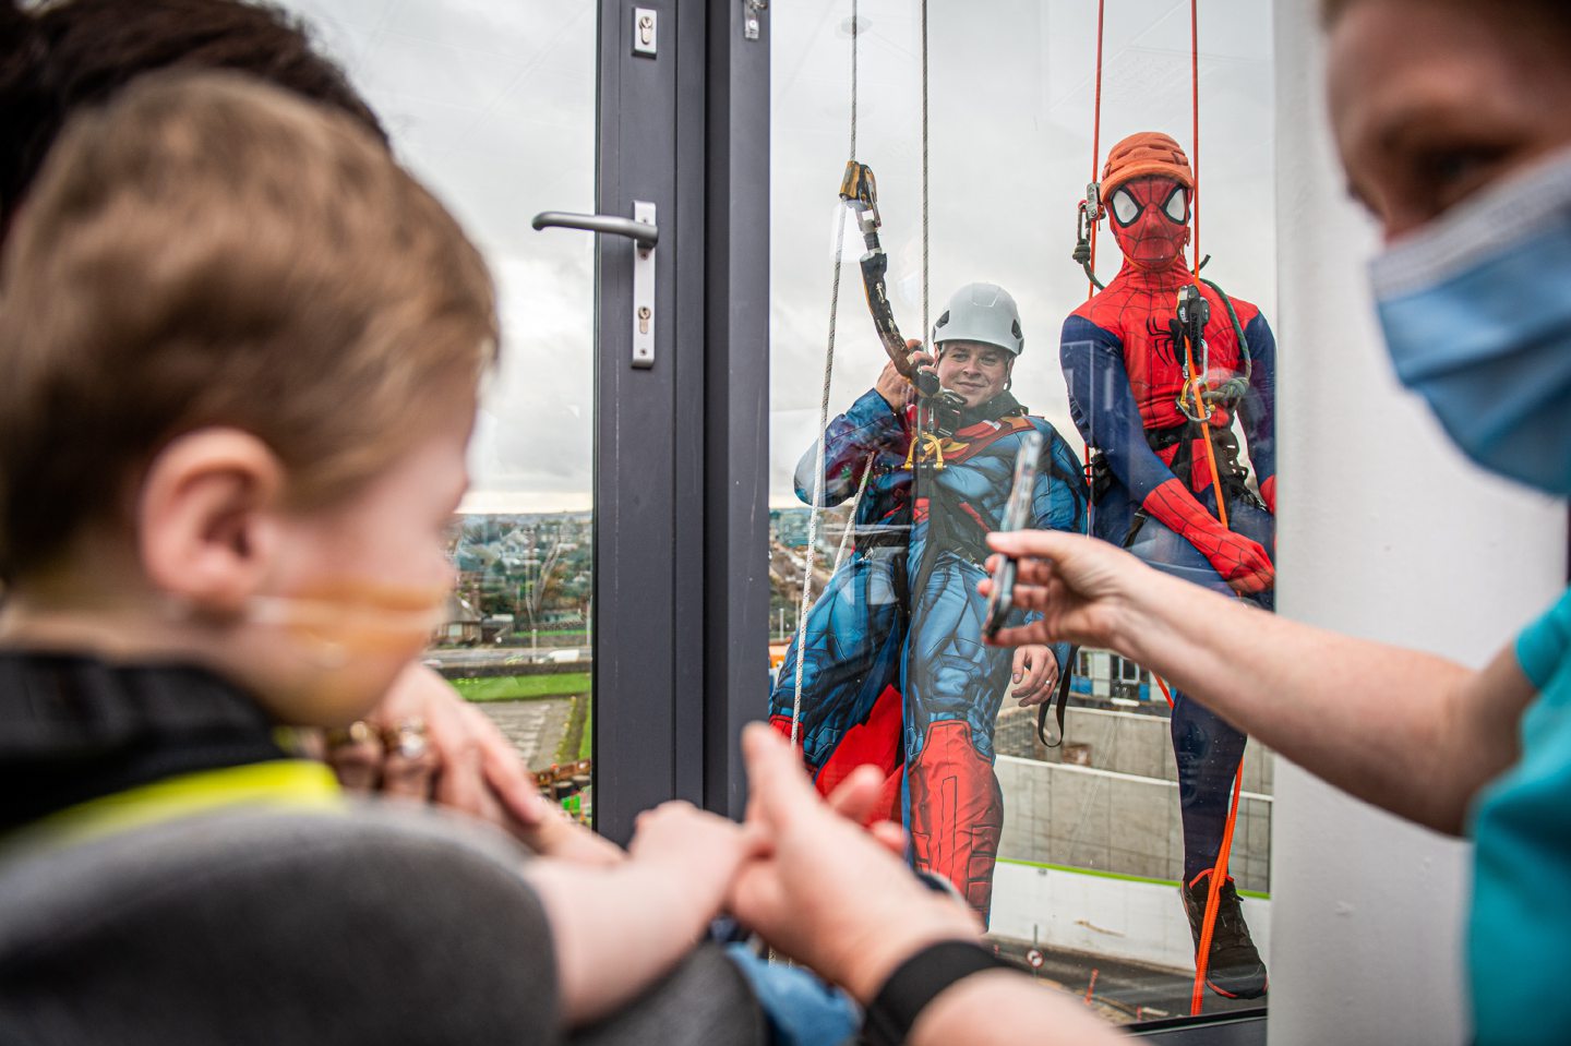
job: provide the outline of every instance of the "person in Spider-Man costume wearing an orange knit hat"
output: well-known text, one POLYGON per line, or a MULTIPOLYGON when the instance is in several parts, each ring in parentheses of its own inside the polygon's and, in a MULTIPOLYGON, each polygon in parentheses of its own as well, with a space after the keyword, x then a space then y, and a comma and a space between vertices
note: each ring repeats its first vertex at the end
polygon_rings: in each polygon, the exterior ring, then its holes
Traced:
MULTIPOLYGON (((1203 281, 1203 338, 1175 338, 1178 294, 1197 283, 1185 262, 1194 173, 1177 141, 1155 132, 1125 138, 1108 154, 1100 188, 1123 267, 1065 320, 1060 344, 1070 413, 1095 452, 1092 534, 1159 570, 1273 609, 1276 339, 1258 308, 1203 281), (1240 460, 1235 416, 1258 495, 1240 460)), ((1183 902, 1199 949, 1244 735, 1181 693, 1172 699, 1183 902)), ((1232 876, 1219 887, 1207 982, 1229 997, 1266 991, 1232 876)))

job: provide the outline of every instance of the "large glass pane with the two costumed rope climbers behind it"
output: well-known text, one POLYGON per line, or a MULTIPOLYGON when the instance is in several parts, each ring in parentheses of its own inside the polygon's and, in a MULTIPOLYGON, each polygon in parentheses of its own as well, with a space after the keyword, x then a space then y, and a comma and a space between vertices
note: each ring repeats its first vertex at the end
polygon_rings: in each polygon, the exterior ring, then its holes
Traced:
POLYGON ((1159 569, 1271 606, 1269 9, 1218 0, 1202 13, 1205 240, 1216 256, 1205 276, 1222 291, 1200 283, 1183 303, 1196 286, 1181 278, 1194 181, 1175 160, 1191 137, 1186 5, 1142 6, 1108 25, 1097 176, 1115 154, 1123 165, 1101 196, 1095 272, 1108 287, 1093 297, 1071 261, 1071 225, 1090 168, 1095 5, 999 5, 982 19, 930 11, 927 215, 913 104, 922 27, 892 0, 862 0, 855 24, 850 14, 850 3, 831 5, 773 24, 779 669, 770 715, 782 732, 795 719, 825 790, 878 763, 889 812, 911 829, 913 862, 985 911, 999 950, 1043 982, 1112 1021, 1188 1015, 1211 908, 1203 1010, 1262 1005, 1254 949, 1268 958, 1268 754, 1109 652, 982 646, 976 581, 1018 424, 1048 437, 1029 526, 1089 528, 1159 569), (842 281, 855 284, 862 250, 834 198, 853 47, 853 159, 878 170, 884 289, 908 333, 933 317, 925 341, 943 350, 939 386, 966 400, 949 424, 941 410, 919 424, 853 286, 839 287, 831 327, 826 254, 842 237, 853 245, 842 281), (1174 141, 1123 141, 1145 130, 1174 141), (818 214, 831 223, 803 221, 818 214), (1018 328, 955 336, 965 308, 950 295, 968 284, 1007 289, 1018 328), (1175 330, 1181 319, 1189 325, 1175 330), (820 481, 831 330, 831 413, 844 413, 826 427, 820 481), (1029 407, 1013 413, 1015 404, 1029 407), (815 482, 823 512, 809 534, 815 482), (812 598, 801 617, 804 583, 812 598), (1056 694, 1034 686, 1043 663, 1067 671, 1060 741, 1043 713, 1056 694), (1227 875, 1208 873, 1224 839, 1227 875))

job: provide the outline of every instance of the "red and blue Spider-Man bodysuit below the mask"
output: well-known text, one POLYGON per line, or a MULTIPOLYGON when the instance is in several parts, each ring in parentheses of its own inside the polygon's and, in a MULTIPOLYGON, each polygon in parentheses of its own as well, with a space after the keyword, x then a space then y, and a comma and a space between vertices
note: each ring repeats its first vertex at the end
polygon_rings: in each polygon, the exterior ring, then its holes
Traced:
MULTIPOLYGON (((1203 444, 1178 411, 1185 377, 1174 360, 1167 320, 1183 270, 1144 273, 1125 264, 1108 289, 1064 324, 1060 358, 1070 413, 1086 443, 1101 451, 1106 471, 1093 481, 1092 534, 1126 547, 1158 570, 1218 591, 1246 591, 1271 609, 1274 520, 1246 485, 1236 463, 1232 415, 1244 422, 1249 460, 1263 481, 1276 476, 1271 385, 1276 342, 1260 311, 1233 298, 1251 355, 1249 391, 1236 410, 1218 407, 1210 433, 1227 499, 1229 526, 1216 518, 1216 490, 1203 444), (1175 468, 1177 466, 1177 468, 1175 468)), ((1210 287, 1207 325, 1213 379, 1243 372, 1227 309, 1210 287)), ((1230 379, 1224 379, 1230 380, 1230 379)), ((1274 487, 1274 484, 1273 484, 1274 487)), ((1174 754, 1185 820, 1185 881, 1216 862, 1230 787, 1244 735, 1174 691, 1174 754)))

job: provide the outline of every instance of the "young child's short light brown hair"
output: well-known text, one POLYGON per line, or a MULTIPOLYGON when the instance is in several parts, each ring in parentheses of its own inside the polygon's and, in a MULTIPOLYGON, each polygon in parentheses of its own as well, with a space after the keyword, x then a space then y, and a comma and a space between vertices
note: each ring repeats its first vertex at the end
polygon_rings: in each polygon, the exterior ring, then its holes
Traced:
POLYGON ((490 276, 349 116, 236 74, 77 116, 0 259, 0 572, 126 521, 174 437, 233 426, 331 503, 473 393, 490 276))

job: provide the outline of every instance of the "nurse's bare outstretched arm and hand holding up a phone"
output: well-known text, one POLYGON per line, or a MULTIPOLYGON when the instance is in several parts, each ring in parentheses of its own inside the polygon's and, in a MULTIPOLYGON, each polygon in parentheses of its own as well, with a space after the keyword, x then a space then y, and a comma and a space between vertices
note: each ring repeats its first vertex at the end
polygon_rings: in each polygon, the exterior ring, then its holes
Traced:
MULTIPOLYGON (((1163 674, 1310 773, 1437 831, 1518 757, 1533 686, 1502 650, 1472 671, 1285 620, 1070 534, 993 534, 1021 556, 1015 602, 1042 611, 998 642, 1070 639, 1163 674)), ((983 583, 983 591, 987 583, 983 583)))

